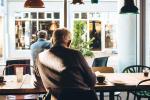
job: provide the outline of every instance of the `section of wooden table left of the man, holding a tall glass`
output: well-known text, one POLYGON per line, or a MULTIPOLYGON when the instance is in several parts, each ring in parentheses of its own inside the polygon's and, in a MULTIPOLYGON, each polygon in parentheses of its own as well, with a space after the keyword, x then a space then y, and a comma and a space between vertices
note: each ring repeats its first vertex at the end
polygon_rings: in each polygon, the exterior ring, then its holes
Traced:
POLYGON ((44 88, 34 86, 34 77, 26 74, 22 82, 17 82, 16 75, 5 75, 3 83, 0 83, 0 95, 23 95, 23 94, 43 94, 44 88))

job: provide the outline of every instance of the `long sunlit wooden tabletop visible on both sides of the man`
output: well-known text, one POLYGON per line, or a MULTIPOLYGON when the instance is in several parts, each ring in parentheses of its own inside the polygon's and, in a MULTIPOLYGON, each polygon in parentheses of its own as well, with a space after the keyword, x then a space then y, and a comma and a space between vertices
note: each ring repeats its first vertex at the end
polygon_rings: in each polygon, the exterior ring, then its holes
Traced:
MULTIPOLYGON (((133 91, 133 90, 150 90, 150 82, 145 82, 140 87, 137 84, 144 79, 143 73, 101 73, 106 77, 106 84, 96 84, 96 91, 133 91), (123 85, 114 85, 114 82, 122 82, 123 85)), ((8 94, 41 94, 46 93, 44 88, 34 86, 34 77, 24 75, 22 82, 17 82, 15 75, 6 75, 6 82, 0 83, 0 95, 8 94)))

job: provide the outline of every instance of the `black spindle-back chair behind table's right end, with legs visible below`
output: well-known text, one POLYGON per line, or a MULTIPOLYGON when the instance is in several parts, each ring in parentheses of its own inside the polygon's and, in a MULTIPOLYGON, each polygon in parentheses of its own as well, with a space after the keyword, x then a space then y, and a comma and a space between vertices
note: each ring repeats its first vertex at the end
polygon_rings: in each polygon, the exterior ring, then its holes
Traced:
MULTIPOLYGON (((150 69, 150 67, 148 66, 145 66, 145 65, 131 65, 131 66, 128 66, 126 67, 124 70, 123 70, 123 73, 141 73, 143 72, 143 69, 145 68, 148 68, 150 69)), ((129 100, 129 94, 132 93, 134 95, 134 100, 136 99, 136 96, 138 95, 138 97, 141 95, 143 96, 144 94, 140 94, 140 92, 137 94, 137 92, 135 91, 132 91, 132 92, 127 92, 127 98, 126 100, 129 100)), ((146 93, 149 93, 149 91, 145 91, 145 94, 146 93)))

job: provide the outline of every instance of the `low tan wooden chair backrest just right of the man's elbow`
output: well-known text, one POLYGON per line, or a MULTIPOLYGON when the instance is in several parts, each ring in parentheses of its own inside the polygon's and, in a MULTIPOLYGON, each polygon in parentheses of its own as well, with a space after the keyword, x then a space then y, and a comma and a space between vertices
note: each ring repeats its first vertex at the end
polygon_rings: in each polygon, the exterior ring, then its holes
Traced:
POLYGON ((105 67, 105 66, 102 66, 102 67, 92 67, 92 71, 93 72, 99 71, 101 73, 114 73, 113 67, 105 67))

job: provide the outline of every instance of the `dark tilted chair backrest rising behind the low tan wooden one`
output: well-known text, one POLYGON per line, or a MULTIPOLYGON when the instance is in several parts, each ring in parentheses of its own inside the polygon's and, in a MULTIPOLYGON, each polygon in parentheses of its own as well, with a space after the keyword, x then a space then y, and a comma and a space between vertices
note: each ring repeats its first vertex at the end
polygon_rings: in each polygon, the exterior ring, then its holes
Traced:
POLYGON ((108 57, 95 58, 92 67, 107 66, 108 57))

